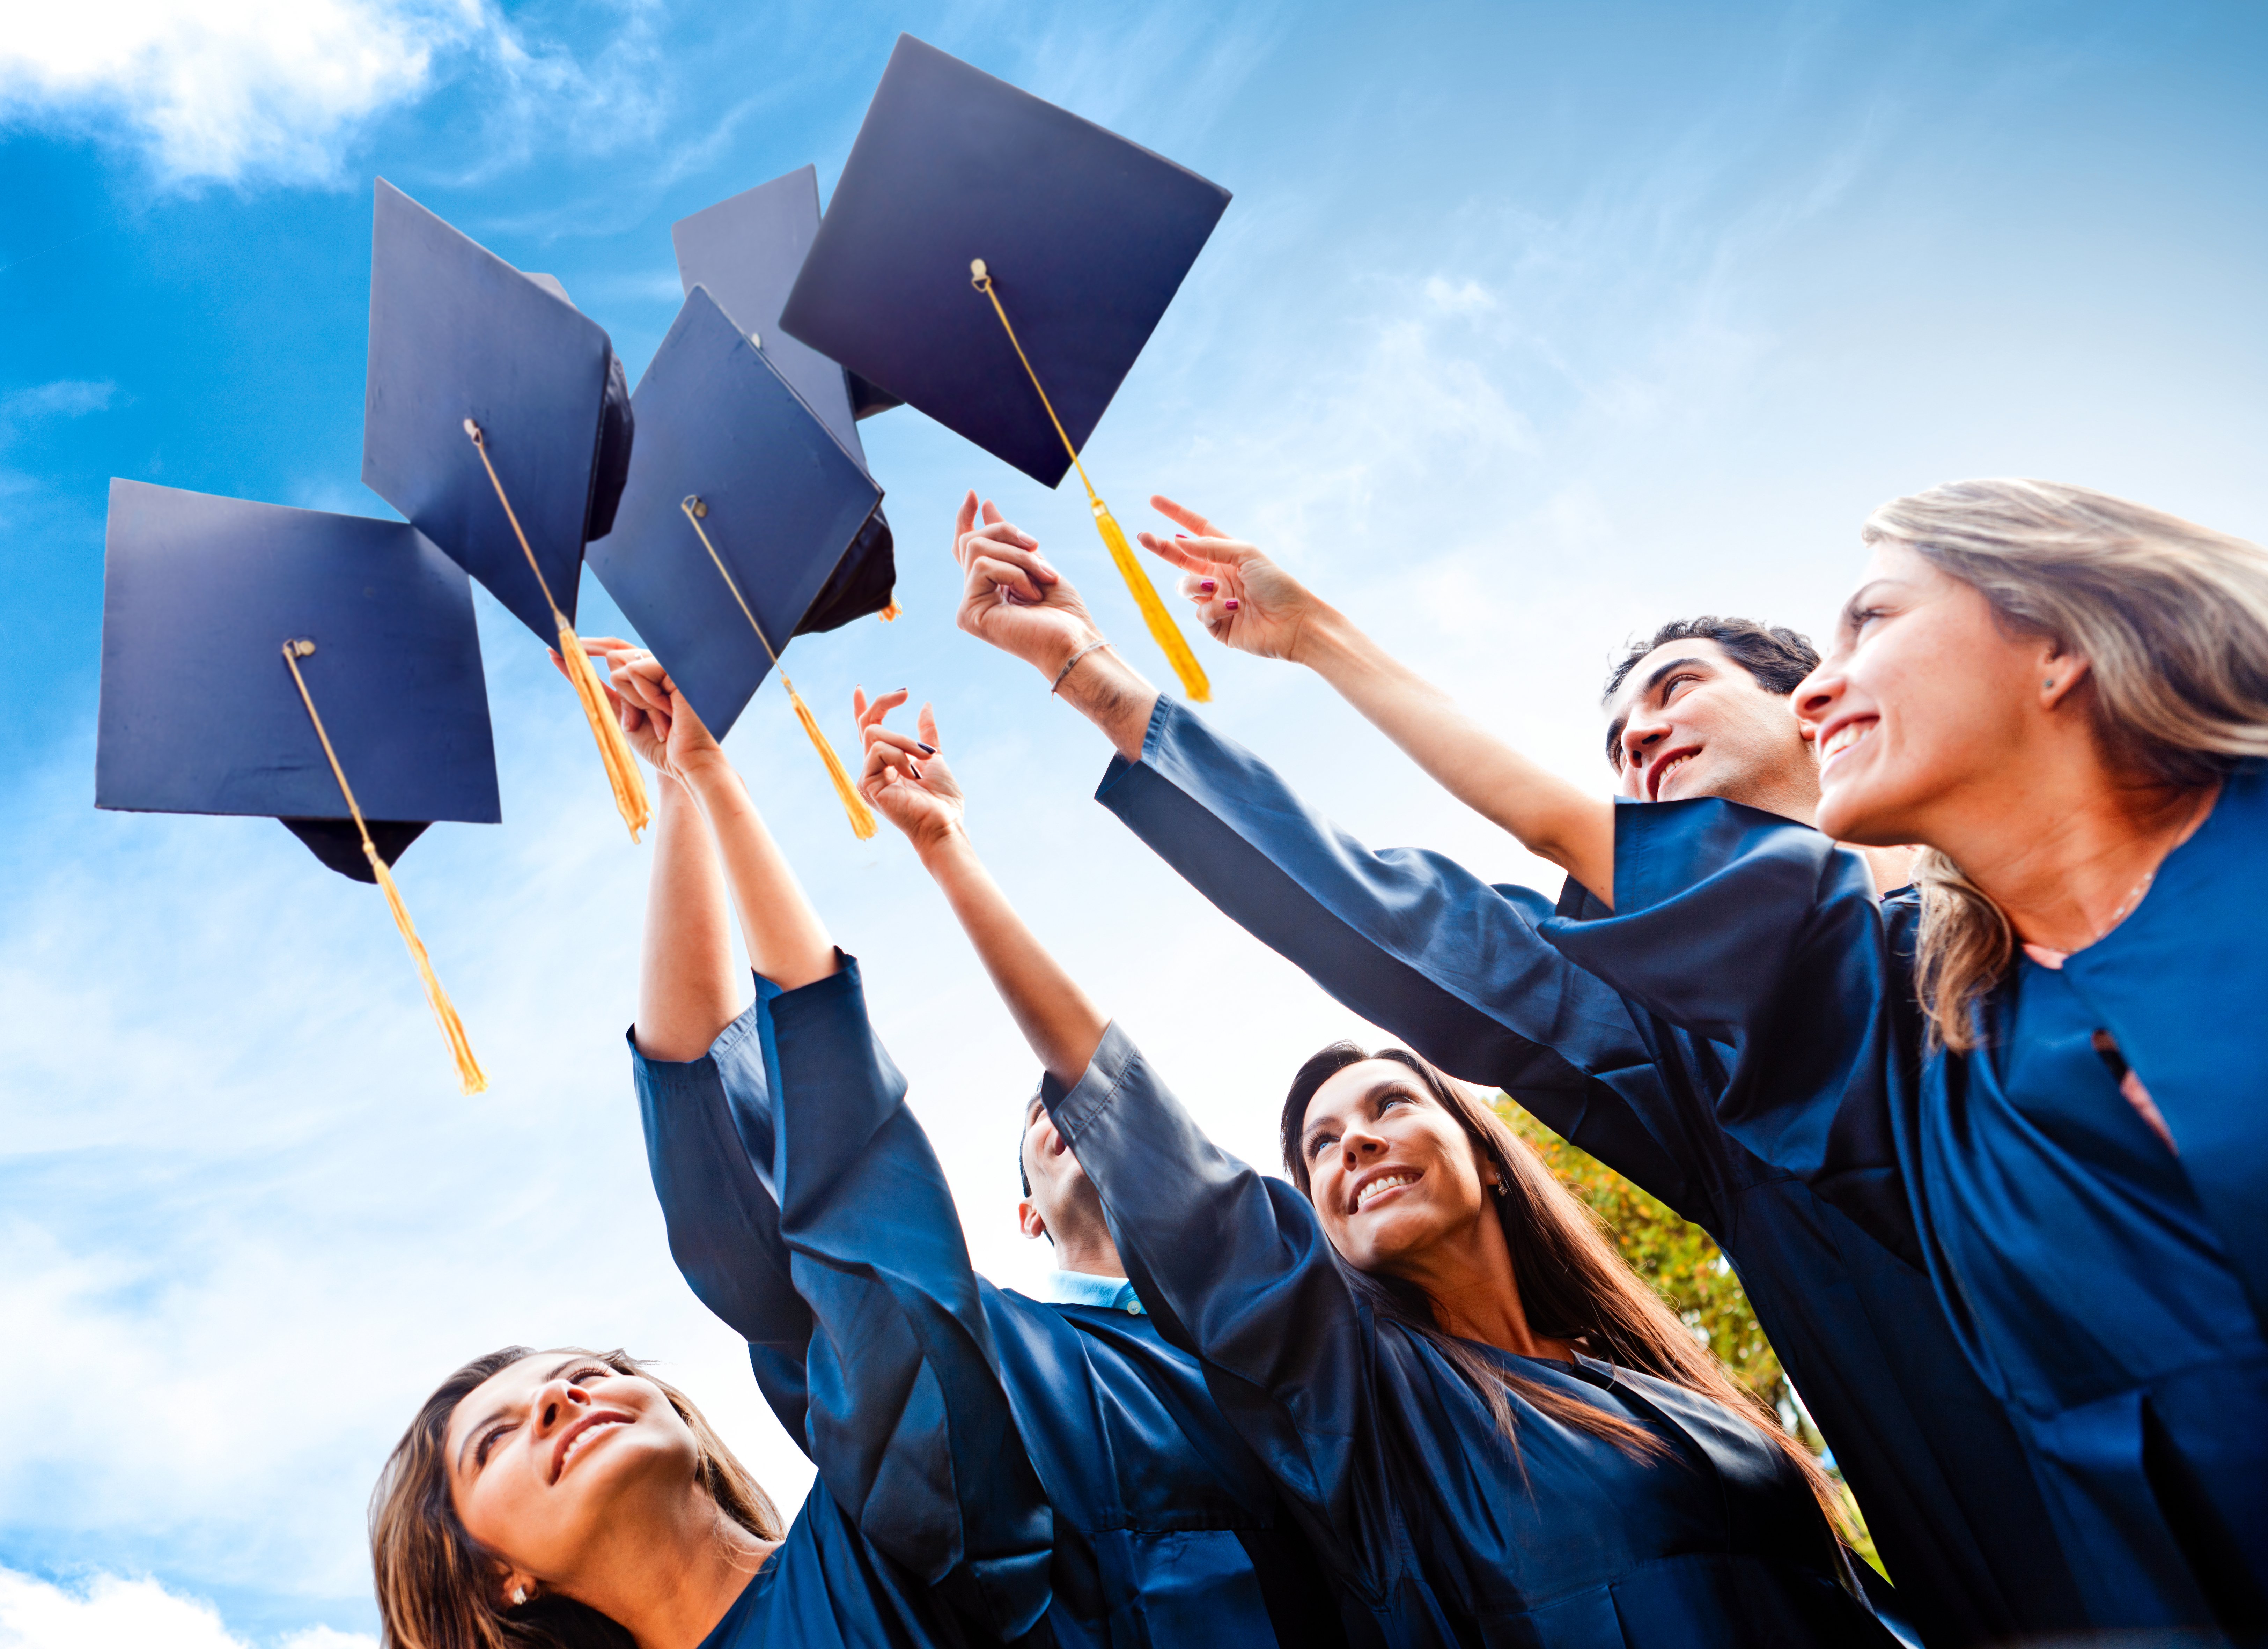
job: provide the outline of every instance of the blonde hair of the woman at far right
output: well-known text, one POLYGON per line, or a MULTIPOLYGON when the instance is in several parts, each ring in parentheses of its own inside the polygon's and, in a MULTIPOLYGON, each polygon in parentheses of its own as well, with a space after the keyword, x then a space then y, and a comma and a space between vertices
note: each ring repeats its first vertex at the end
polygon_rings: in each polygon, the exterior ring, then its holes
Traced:
MULTIPOLYGON (((2053 481, 1953 481, 1867 517, 1991 603, 2019 635, 2089 662, 2087 708, 2112 767, 2180 789, 2268 755, 2268 551, 2177 515, 2053 481)), ((1916 989, 1930 1034, 1978 1046, 1978 1005, 2016 932, 1960 864, 1914 860, 1916 989)))

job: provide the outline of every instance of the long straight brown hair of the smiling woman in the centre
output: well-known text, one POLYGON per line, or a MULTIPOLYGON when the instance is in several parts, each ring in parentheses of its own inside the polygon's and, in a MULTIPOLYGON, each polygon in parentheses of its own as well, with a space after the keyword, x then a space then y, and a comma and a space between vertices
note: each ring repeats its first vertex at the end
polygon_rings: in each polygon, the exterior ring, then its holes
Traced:
MULTIPOLYGON (((1601 1361, 1667 1379, 1672 1386, 1683 1386, 1749 1420, 1803 1474, 1828 1524, 1837 1531, 1844 1527, 1835 1488, 1810 1449, 1787 1436, 1780 1418, 1733 1379, 1724 1363, 1662 1304, 1660 1295, 1647 1288, 1615 1252, 1599 1218, 1551 1177, 1535 1150, 1461 1082, 1449 1080, 1417 1055, 1406 1048, 1368 1052, 1361 1043, 1334 1041, 1300 1066, 1290 1080, 1290 1093, 1284 1096, 1281 1143, 1284 1168, 1302 1195, 1309 1200, 1315 1195, 1306 1152, 1300 1150, 1300 1134, 1306 1132, 1306 1107, 1325 1082, 1368 1059, 1388 1059, 1415 1073, 1433 1102, 1465 1130, 1474 1157, 1495 1166, 1504 1186, 1504 1195, 1495 1202, 1497 1218, 1504 1223, 1504 1243, 1513 1252, 1513 1284, 1520 1288, 1520 1309, 1540 1338, 1581 1341, 1601 1361)), ((1488 1402, 1497 1429, 1515 1449, 1513 1393, 1554 1420, 1608 1438, 1631 1454, 1644 1456, 1662 1449, 1651 1431, 1567 1397, 1542 1381, 1524 1379, 1476 1352, 1467 1341, 1445 1334, 1424 1288, 1352 1266, 1347 1270, 1361 1279, 1381 1318, 1415 1329, 1456 1365, 1488 1402)))

